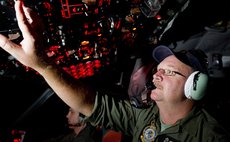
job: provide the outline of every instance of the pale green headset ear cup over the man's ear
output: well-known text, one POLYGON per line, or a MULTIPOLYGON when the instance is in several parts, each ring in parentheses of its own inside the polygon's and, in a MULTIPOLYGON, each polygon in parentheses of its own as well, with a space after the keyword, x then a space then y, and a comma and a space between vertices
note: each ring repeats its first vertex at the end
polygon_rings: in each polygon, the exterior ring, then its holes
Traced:
POLYGON ((208 85, 208 76, 199 71, 193 72, 185 82, 184 93, 188 99, 201 100, 208 85))

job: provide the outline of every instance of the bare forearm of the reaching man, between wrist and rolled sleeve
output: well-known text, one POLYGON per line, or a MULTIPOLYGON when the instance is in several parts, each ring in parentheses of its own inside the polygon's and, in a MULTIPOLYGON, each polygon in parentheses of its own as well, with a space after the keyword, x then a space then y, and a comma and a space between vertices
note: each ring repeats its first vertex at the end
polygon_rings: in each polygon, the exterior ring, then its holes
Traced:
POLYGON ((92 113, 95 91, 82 81, 57 67, 49 65, 41 75, 54 92, 71 108, 89 116, 92 113))

